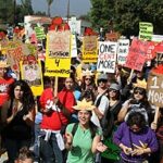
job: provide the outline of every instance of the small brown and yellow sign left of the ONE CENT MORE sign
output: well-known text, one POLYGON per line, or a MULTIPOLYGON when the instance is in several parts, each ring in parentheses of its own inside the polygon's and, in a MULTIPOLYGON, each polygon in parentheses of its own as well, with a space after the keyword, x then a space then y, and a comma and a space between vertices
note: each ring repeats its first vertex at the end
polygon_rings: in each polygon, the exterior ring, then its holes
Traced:
POLYGON ((83 40, 83 62, 93 63, 98 60, 98 37, 85 36, 83 40))

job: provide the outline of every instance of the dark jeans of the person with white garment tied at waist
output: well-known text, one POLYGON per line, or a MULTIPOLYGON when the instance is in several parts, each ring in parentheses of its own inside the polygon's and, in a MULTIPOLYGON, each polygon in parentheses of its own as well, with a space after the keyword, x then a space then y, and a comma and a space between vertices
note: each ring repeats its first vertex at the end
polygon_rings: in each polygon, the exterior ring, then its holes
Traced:
POLYGON ((60 150, 55 134, 51 134, 50 139, 46 141, 40 138, 40 154, 45 163, 63 163, 62 151, 60 150))

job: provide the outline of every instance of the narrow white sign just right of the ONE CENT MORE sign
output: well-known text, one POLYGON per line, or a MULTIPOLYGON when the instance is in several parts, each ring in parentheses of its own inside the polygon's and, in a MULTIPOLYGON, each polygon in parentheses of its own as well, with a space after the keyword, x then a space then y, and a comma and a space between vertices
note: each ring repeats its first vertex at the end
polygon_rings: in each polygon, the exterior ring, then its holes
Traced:
POLYGON ((129 39, 118 39, 117 63, 124 65, 129 50, 129 39))

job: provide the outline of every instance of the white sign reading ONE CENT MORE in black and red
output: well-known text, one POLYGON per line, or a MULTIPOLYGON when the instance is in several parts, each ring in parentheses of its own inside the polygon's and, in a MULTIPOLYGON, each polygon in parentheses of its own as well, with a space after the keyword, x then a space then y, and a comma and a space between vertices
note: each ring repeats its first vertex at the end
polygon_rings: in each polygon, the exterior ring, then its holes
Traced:
POLYGON ((114 73, 116 65, 117 42, 99 42, 98 72, 114 73))

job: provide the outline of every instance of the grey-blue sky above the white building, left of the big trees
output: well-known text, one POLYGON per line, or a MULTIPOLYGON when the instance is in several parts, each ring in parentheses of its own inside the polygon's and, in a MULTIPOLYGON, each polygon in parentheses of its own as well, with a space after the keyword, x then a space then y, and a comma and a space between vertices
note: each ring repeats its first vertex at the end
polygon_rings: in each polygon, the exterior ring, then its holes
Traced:
MULTIPOLYGON (((21 0, 17 0, 17 3, 21 0)), ((66 16, 68 0, 53 0, 51 5, 51 16, 66 16)), ((34 11, 47 12, 47 0, 32 0, 34 11)), ((91 8, 90 0, 70 0, 70 15, 84 15, 91 8)))

